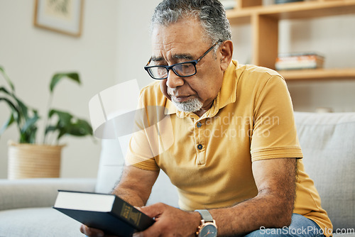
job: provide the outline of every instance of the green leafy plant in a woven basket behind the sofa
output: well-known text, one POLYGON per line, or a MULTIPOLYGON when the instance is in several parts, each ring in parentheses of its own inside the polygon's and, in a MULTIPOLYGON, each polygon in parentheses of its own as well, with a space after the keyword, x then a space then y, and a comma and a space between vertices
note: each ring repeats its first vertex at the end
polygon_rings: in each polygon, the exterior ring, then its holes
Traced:
POLYGON ((40 142, 37 140, 37 132, 38 122, 42 117, 38 110, 28 106, 18 97, 11 79, 1 66, 0 74, 5 82, 0 83, 0 102, 7 104, 10 109, 9 118, 0 128, 0 136, 13 124, 17 126, 19 134, 18 143, 9 142, 9 179, 59 177, 60 154, 64 146, 60 145, 60 139, 65 135, 92 136, 92 127, 87 121, 51 107, 53 92, 58 82, 70 79, 80 84, 79 75, 77 72, 53 75, 49 87, 48 113, 44 117, 43 140, 40 142))

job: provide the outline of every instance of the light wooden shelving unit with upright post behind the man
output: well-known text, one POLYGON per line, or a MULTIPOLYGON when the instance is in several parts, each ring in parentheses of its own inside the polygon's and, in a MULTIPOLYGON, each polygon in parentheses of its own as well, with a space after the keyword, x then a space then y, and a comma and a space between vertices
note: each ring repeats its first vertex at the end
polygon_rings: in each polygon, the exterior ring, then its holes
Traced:
MULTIPOLYGON (((236 0, 236 9, 226 11, 231 25, 250 24, 252 28, 252 64, 275 68, 278 57, 280 19, 317 18, 354 14, 355 0, 313 0, 263 6, 262 0, 236 0)), ((355 79, 355 69, 283 71, 288 80, 355 79)))

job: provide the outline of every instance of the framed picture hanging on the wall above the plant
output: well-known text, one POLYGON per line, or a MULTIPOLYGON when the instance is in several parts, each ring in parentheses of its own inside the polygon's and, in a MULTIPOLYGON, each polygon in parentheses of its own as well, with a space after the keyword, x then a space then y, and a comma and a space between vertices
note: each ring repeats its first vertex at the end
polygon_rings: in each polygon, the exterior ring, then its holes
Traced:
POLYGON ((35 0, 34 25, 79 37, 84 0, 35 0))

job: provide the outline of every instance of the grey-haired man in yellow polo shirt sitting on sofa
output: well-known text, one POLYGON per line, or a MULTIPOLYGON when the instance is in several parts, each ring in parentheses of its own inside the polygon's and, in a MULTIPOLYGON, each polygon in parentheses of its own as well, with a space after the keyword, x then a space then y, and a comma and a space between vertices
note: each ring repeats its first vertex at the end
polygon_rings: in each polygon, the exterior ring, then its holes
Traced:
POLYGON ((155 218, 135 235, 329 236, 332 224, 302 165, 285 81, 231 60, 222 4, 164 0, 151 33, 145 69, 159 81, 142 90, 140 103, 167 110, 174 143, 157 155, 131 139, 131 165, 113 193, 155 218), (144 206, 160 169, 178 187, 180 209, 144 206))

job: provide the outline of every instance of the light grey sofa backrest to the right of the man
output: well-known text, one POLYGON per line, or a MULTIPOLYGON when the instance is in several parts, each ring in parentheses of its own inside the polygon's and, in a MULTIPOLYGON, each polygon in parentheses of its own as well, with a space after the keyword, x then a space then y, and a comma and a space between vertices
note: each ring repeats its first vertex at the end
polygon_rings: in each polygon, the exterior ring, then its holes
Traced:
POLYGON ((334 230, 355 228, 355 113, 295 112, 305 171, 334 230))

